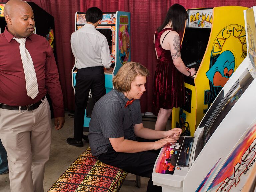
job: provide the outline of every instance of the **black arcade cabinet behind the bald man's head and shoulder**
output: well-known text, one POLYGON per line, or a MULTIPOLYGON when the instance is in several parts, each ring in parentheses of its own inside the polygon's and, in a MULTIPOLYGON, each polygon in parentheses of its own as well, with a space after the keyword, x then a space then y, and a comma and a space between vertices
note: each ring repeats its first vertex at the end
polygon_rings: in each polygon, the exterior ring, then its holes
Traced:
MULTIPOLYGON (((33 2, 27 2, 35 15, 35 30, 33 33, 37 35, 41 35, 47 39, 47 41, 50 43, 54 57, 55 59, 57 58, 56 56, 56 49, 55 49, 55 38, 54 38, 54 17, 47 13, 45 10, 43 10, 41 7, 39 7, 37 4, 33 2)), ((0 3, 0 33, 3 33, 5 30, 6 22, 4 19, 4 6, 6 3, 0 3)), ((51 109, 51 117, 53 118, 53 107, 52 107, 52 102, 51 98, 48 94, 46 94, 47 100, 50 104, 50 109, 51 109)))

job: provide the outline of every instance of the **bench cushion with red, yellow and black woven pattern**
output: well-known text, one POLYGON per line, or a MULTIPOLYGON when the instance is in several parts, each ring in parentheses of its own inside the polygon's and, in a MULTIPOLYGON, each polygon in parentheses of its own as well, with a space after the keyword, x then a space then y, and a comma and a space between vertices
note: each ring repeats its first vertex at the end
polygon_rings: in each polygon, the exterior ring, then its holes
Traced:
POLYGON ((48 192, 117 192, 127 174, 99 161, 88 147, 48 192))

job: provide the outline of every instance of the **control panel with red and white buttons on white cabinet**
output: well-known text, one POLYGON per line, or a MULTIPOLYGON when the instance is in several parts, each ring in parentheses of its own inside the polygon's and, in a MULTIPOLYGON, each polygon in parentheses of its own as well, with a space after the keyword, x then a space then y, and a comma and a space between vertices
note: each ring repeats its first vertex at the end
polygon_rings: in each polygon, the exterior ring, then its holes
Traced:
POLYGON ((177 143, 165 145, 158 156, 155 172, 185 176, 189 170, 193 143, 194 137, 181 136, 177 143))

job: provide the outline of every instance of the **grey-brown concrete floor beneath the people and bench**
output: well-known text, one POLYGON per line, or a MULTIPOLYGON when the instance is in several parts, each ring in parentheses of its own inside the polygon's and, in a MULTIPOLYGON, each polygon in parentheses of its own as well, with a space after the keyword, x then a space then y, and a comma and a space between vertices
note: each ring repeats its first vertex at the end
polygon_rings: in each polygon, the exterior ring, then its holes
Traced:
MULTIPOLYGON (((143 118, 144 127, 154 129, 154 118, 143 118)), ((53 183, 66 171, 66 169, 84 152, 89 143, 84 142, 84 147, 75 147, 67 144, 66 139, 73 137, 74 118, 71 113, 65 113, 65 124, 60 130, 52 130, 52 145, 50 159, 45 166, 44 191, 48 191, 53 183)), ((168 120, 167 127, 170 127, 168 120)), ((84 132, 84 134, 87 134, 84 132)), ((128 174, 126 179, 135 180, 135 175, 128 174)), ((145 192, 147 189, 148 178, 141 177, 141 187, 123 184, 120 192, 145 192)), ((11 192, 9 174, 0 175, 0 192, 11 192)))

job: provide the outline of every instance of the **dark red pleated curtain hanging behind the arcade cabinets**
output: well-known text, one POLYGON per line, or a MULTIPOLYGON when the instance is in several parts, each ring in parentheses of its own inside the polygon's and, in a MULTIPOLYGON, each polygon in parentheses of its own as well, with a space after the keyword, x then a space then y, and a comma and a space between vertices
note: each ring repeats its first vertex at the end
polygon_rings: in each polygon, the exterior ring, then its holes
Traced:
MULTIPOLYGON (((140 99, 141 111, 154 112, 152 106, 153 79, 157 64, 153 36, 160 26, 171 5, 179 3, 186 9, 216 6, 245 6, 256 5, 255 0, 28 0, 36 3, 55 19, 55 38, 57 65, 60 83, 64 97, 64 107, 74 110, 74 90, 72 88, 72 68, 74 57, 71 52, 70 36, 75 31, 75 12, 86 11, 89 7, 98 7, 103 12, 127 11, 131 13, 131 60, 139 62, 150 71, 147 78, 146 92, 140 99)), ((3 2, 7 2, 3 0, 3 2)), ((36 15, 36 13, 34 13, 36 15)), ((36 22, 36 21, 35 21, 36 22)))

